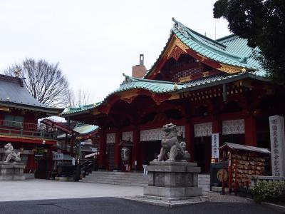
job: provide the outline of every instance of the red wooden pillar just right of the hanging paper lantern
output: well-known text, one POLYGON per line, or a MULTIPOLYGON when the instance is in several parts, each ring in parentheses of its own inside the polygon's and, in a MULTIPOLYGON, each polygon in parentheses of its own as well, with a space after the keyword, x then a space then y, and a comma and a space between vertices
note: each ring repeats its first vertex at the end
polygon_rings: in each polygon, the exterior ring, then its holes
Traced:
POLYGON ((135 128, 133 131, 133 151, 132 151, 132 168, 135 168, 137 161, 137 169, 142 168, 142 160, 140 160, 140 131, 135 128))

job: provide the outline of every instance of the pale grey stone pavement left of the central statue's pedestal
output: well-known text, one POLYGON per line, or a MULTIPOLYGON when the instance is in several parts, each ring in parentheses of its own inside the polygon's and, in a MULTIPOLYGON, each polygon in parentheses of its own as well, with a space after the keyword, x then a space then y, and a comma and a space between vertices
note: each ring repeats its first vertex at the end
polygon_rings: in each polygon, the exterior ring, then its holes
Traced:
POLYGON ((142 187, 56 180, 0 180, 0 201, 142 195, 142 187))

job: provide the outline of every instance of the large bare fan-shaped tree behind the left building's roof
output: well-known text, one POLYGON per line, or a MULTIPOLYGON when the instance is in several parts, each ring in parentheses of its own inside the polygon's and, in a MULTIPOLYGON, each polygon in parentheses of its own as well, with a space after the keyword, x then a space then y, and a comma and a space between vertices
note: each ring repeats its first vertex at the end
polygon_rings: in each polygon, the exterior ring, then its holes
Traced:
POLYGON ((25 78, 28 92, 41 103, 48 106, 68 104, 68 81, 58 63, 26 58, 22 63, 10 66, 4 74, 25 78))

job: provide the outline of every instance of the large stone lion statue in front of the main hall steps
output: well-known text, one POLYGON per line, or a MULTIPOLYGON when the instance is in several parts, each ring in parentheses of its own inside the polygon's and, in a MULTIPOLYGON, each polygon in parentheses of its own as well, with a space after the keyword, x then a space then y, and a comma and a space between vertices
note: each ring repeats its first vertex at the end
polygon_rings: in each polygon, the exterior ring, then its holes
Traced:
POLYGON ((185 142, 179 142, 177 139, 177 128, 174 124, 169 123, 162 127, 163 136, 161 140, 161 149, 158 158, 153 161, 190 161, 185 142))

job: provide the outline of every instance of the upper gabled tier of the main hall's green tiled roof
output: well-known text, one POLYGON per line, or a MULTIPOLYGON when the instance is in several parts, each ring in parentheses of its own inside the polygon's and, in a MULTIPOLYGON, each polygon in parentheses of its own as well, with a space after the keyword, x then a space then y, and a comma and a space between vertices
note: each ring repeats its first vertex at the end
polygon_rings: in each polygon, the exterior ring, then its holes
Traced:
MULTIPOLYGON (((241 39, 238 36, 230 35, 222 39, 217 39, 217 41, 215 41, 209 39, 207 36, 203 36, 202 34, 193 31, 175 19, 172 20, 175 22, 175 24, 171 30, 172 34, 170 35, 170 39, 174 34, 178 39, 180 39, 180 41, 182 41, 183 44, 188 46, 190 49, 196 51, 202 56, 212 59, 213 61, 224 63, 229 66, 247 68, 247 70, 257 72, 258 75, 265 73, 262 70, 261 66, 259 66, 259 63, 254 60, 252 56, 253 49, 247 46, 246 39, 241 39)), ((167 47, 167 44, 165 46, 165 49, 167 47)), ((160 56, 157 58, 157 61, 159 61, 163 52, 164 51, 161 52, 160 56)), ((146 73, 145 77, 147 77, 148 74, 152 72, 152 69, 155 68, 155 64, 146 73)))

